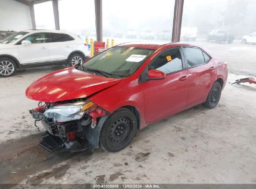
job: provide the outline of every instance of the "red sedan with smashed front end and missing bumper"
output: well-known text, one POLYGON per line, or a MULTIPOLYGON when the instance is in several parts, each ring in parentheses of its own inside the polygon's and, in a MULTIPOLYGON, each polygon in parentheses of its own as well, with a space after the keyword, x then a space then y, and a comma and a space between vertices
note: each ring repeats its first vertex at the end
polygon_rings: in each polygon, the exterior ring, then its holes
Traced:
POLYGON ((30 113, 47 132, 40 145, 108 152, 124 149, 137 129, 203 104, 214 108, 227 81, 227 63, 189 44, 117 45, 82 65, 32 83, 30 113))

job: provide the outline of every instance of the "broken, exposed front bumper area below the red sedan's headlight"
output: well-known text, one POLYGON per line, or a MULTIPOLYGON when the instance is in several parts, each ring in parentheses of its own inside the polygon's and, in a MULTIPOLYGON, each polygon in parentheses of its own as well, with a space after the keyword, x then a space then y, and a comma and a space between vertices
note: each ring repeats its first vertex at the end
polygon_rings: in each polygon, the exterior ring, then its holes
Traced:
POLYGON ((34 119, 40 118, 46 136, 39 145, 50 152, 57 149, 77 152, 97 148, 100 130, 108 118, 108 115, 97 118, 97 125, 95 126, 92 124, 93 118, 90 116, 80 120, 57 123, 45 118, 43 113, 34 109, 29 113, 34 119))

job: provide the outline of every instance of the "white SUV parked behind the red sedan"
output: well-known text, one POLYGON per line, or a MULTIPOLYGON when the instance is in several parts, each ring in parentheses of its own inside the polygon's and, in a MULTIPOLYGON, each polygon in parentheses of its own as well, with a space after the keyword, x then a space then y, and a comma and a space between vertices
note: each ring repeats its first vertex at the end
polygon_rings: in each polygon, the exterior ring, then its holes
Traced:
POLYGON ((17 69, 29 67, 71 67, 88 58, 88 46, 78 35, 57 30, 24 30, 0 41, 0 76, 12 76, 17 69))

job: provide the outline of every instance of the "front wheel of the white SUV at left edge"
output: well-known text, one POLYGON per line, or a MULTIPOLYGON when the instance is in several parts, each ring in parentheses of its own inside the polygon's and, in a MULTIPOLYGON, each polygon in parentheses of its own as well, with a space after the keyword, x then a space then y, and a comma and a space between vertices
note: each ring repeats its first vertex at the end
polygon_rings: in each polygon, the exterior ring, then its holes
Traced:
POLYGON ((9 77, 17 71, 17 65, 11 58, 0 58, 0 76, 9 77))

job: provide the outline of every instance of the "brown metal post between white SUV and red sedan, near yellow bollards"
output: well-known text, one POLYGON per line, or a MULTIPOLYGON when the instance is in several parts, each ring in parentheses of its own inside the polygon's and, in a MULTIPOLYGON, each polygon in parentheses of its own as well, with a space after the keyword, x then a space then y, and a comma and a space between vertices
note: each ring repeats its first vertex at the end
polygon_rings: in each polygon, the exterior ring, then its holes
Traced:
POLYGON ((102 0, 94 0, 95 4, 95 25, 97 41, 102 42, 102 0))

